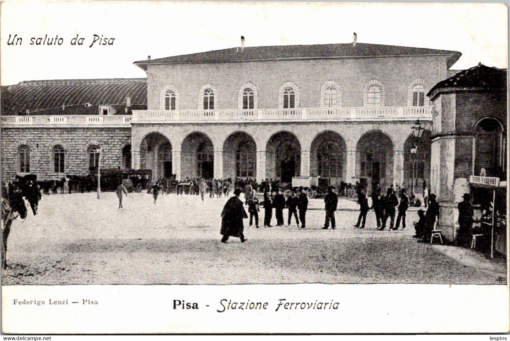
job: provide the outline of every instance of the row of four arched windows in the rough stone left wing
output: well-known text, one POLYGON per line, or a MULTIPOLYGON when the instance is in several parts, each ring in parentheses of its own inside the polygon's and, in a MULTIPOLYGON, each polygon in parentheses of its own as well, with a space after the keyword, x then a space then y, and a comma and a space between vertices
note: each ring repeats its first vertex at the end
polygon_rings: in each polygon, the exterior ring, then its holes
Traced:
MULTIPOLYGON (((88 169, 97 169, 99 164, 99 146, 91 145, 87 148, 87 166, 88 169)), ((66 172, 66 150, 62 145, 55 145, 52 148, 52 172, 66 172)), ((131 145, 122 148, 122 167, 131 168, 131 145)), ((30 147, 21 145, 18 148, 18 171, 20 173, 30 173, 30 147)))

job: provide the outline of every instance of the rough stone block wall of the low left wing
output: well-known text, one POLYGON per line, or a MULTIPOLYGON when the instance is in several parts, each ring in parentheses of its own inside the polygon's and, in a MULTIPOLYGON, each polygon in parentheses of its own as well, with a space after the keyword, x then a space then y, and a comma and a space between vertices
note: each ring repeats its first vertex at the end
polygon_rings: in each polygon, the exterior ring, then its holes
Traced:
POLYGON ((122 167, 122 149, 131 144, 131 128, 3 128, 2 180, 12 181, 19 173, 18 148, 30 148, 30 173, 38 179, 57 179, 64 173, 54 172, 53 147, 65 150, 65 174, 89 173, 88 147, 101 147, 101 168, 122 167))

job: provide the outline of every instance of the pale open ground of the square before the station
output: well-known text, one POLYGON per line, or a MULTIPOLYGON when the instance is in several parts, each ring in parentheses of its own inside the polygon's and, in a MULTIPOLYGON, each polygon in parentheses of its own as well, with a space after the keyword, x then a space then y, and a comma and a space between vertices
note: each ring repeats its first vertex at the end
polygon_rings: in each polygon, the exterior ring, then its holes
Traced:
POLYGON ((311 209, 307 229, 256 229, 245 220, 248 241, 222 244, 225 198, 153 201, 133 193, 118 209, 114 193, 43 196, 37 216, 13 224, 3 284, 505 284, 496 281, 506 277, 502 257, 412 238, 416 212, 392 232, 377 231, 370 212, 361 230, 352 226, 356 204, 342 200, 336 230, 322 230, 324 212, 311 209))

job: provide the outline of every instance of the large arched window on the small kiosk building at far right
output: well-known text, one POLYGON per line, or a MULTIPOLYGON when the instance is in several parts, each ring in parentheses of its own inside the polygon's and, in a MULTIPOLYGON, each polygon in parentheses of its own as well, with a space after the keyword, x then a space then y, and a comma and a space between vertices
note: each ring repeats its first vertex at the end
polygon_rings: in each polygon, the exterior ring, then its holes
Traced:
POLYGON ((505 138, 501 123, 492 117, 481 119, 475 127, 475 175, 485 169, 487 176, 505 177, 505 138))

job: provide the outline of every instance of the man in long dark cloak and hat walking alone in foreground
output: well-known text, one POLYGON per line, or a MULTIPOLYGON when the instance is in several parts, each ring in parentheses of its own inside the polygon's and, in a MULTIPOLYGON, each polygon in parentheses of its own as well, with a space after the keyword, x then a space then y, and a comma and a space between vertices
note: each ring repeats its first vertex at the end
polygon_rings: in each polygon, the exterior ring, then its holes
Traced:
POLYGON ((221 212, 221 230, 220 233, 223 235, 221 243, 226 243, 228 237, 237 237, 241 239, 241 243, 246 242, 244 238, 244 225, 243 219, 248 218, 246 211, 244 211, 244 205, 239 195, 241 189, 236 188, 234 190, 234 196, 227 200, 223 211, 221 212))

